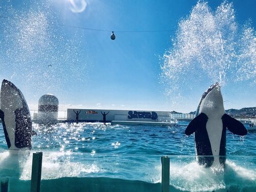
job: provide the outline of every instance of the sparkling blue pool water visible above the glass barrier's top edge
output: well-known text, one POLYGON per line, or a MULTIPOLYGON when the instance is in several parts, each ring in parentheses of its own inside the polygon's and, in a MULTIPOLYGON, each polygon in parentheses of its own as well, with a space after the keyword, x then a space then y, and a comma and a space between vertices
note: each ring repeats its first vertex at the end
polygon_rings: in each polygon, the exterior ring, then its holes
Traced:
MULTIPOLYGON (((194 137, 184 134, 189 121, 172 126, 110 125, 102 123, 33 124, 32 150, 104 154, 195 155, 194 137)), ((245 126, 248 126, 247 124, 245 126)), ((3 130, 0 125, 0 130, 3 130)), ((227 155, 256 155, 256 134, 244 137, 227 131, 227 155), (245 150, 246 148, 246 150, 245 150)), ((6 148, 0 131, 0 148, 6 148)))

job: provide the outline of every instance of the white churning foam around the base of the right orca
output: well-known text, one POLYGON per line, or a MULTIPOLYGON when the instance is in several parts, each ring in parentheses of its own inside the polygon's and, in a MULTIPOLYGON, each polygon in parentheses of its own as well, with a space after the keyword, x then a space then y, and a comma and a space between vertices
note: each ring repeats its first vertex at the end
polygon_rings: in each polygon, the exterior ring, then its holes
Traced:
POLYGON ((222 191, 234 186, 238 191, 255 188, 255 163, 242 164, 244 166, 227 160, 225 168, 222 165, 205 168, 197 162, 170 163, 170 185, 182 191, 222 191))

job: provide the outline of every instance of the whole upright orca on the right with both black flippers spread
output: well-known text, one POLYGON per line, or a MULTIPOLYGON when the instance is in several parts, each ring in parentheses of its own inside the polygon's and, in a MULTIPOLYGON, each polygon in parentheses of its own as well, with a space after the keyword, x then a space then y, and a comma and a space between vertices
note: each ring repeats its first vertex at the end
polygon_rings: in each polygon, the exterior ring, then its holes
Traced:
POLYGON ((196 155, 200 165, 205 167, 224 165, 226 129, 241 136, 247 134, 243 123, 225 113, 220 85, 217 82, 204 92, 197 108, 196 118, 185 130, 186 135, 195 133, 196 155))

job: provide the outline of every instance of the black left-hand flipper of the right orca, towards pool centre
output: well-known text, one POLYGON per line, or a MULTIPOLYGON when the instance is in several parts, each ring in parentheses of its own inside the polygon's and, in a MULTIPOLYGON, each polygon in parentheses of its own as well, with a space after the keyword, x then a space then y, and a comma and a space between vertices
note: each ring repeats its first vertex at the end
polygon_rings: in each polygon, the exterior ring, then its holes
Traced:
POLYGON ((204 113, 200 113, 197 117, 195 117, 188 125, 185 130, 186 135, 191 135, 193 134, 198 127, 201 127, 202 124, 206 124, 208 120, 208 117, 204 113))

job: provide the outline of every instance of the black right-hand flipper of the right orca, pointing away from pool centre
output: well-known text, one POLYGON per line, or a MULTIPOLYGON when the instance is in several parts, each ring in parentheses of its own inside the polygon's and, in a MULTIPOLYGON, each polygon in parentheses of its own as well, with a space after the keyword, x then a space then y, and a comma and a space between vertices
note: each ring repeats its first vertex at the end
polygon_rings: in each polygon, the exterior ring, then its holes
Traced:
POLYGON ((245 126, 243 125, 243 123, 241 123, 240 121, 238 121, 237 119, 234 119, 233 117, 230 117, 227 114, 224 114, 222 117, 222 122, 224 127, 227 127, 227 129, 236 135, 246 135, 247 134, 247 129, 245 128, 245 126))

